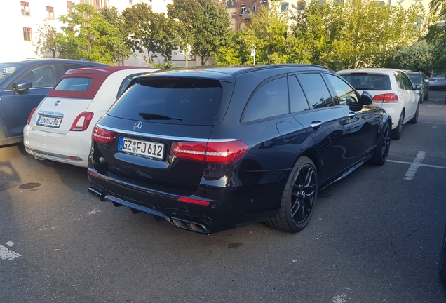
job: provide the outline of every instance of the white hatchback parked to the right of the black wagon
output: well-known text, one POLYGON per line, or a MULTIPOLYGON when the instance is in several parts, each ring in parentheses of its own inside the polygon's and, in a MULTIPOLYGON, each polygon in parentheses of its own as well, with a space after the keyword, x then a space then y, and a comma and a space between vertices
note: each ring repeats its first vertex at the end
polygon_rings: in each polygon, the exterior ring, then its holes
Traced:
POLYGON ((367 90, 375 105, 392 118, 392 139, 400 139, 405 123, 417 123, 421 86, 412 86, 409 76, 399 69, 345 69, 337 72, 359 93, 367 90))

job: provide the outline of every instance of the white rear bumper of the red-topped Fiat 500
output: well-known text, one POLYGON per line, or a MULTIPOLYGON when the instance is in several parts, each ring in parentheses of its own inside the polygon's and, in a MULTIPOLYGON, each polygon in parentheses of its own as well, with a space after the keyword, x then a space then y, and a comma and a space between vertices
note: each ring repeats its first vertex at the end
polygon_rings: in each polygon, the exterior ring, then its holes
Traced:
POLYGON ((23 129, 23 144, 27 153, 37 159, 86 168, 91 147, 90 133, 90 130, 67 134, 47 133, 27 125, 23 129))

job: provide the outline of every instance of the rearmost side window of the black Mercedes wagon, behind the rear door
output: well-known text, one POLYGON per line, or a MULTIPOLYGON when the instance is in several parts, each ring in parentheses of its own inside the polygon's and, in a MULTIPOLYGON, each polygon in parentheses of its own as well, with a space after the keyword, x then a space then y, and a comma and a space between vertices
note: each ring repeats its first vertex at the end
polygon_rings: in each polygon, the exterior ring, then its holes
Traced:
POLYGON ((288 114, 286 77, 269 81, 255 91, 248 101, 243 121, 254 121, 282 114, 288 114))

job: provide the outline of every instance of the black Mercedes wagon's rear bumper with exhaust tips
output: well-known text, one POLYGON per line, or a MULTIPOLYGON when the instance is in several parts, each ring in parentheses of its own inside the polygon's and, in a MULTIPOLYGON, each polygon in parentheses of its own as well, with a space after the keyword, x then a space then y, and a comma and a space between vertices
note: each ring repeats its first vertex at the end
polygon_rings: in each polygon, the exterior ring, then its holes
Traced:
MULTIPOLYGON (((201 185, 196 195, 201 198, 205 191, 209 205, 197 205, 179 201, 180 196, 154 191, 101 175, 88 169, 88 191, 102 201, 111 201, 114 206, 128 206, 133 213, 150 213, 168 220, 176 227, 210 234, 227 229, 261 222, 274 217, 280 208, 281 192, 285 184, 263 184, 252 191, 243 187, 205 187, 201 185)), ((203 198, 204 199, 204 198, 203 198)))

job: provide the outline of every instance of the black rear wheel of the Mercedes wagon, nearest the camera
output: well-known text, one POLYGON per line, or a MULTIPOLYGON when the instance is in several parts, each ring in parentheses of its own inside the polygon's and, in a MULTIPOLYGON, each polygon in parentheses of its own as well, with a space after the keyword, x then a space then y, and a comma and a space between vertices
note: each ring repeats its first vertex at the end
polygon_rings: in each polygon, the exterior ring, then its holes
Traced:
POLYGON ((310 222, 318 194, 318 174, 313 161, 300 157, 288 177, 276 217, 266 220, 271 227, 289 232, 302 231, 310 222))

